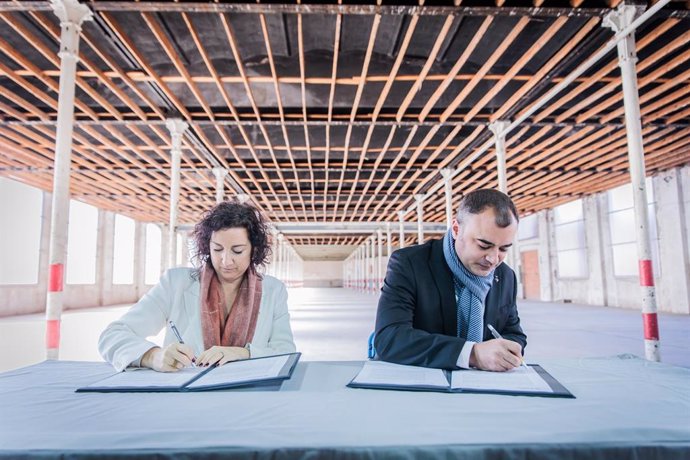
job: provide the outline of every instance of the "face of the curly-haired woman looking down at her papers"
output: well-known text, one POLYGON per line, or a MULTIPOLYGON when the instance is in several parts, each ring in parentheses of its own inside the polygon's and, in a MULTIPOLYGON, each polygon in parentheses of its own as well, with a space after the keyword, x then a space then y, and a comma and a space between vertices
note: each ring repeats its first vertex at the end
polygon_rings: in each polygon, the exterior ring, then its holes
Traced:
POLYGON ((244 276, 252 258, 252 244, 244 227, 211 233, 211 264, 221 283, 233 283, 244 276))

